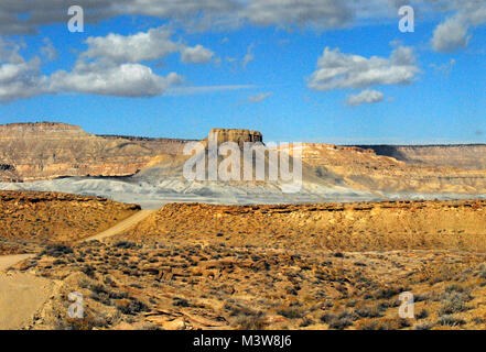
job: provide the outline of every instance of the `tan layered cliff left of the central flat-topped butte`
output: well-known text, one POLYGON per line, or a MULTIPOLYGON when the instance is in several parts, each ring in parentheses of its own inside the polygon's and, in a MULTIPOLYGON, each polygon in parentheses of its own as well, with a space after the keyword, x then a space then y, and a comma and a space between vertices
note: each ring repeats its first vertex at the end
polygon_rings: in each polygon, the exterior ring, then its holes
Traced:
POLYGON ((0 125, 0 180, 62 176, 129 176, 162 154, 181 154, 185 141, 98 136, 65 123, 0 125))

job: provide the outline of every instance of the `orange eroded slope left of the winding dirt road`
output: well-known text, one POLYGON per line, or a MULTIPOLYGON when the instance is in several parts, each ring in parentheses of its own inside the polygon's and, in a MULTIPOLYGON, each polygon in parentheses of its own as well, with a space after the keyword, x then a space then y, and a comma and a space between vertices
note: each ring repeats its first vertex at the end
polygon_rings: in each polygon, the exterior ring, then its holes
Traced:
POLYGON ((99 197, 0 191, 0 255, 32 253, 50 243, 74 243, 139 209, 99 197))

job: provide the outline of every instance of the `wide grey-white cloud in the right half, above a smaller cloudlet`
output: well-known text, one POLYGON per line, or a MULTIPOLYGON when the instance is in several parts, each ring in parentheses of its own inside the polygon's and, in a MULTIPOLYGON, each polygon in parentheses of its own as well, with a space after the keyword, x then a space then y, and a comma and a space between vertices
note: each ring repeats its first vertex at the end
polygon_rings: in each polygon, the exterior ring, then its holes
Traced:
POLYGON ((307 78, 307 87, 332 90, 404 85, 410 84, 419 73, 411 47, 400 46, 392 51, 389 58, 366 58, 326 47, 317 61, 317 69, 307 78))

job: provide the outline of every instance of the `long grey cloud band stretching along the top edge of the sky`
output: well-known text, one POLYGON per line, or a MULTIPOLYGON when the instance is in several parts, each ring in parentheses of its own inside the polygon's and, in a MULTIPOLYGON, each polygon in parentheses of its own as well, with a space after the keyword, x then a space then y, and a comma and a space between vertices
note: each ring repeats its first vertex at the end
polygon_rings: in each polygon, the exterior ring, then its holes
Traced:
MULTIPOLYGON (((35 33, 39 26, 66 23, 69 0, 43 0, 32 9, 31 0, 0 2, 0 34, 35 33)), ((149 15, 176 21, 201 29, 234 28, 244 23, 258 25, 312 25, 322 29, 342 28, 356 18, 390 15, 390 0, 77 0, 85 10, 86 23, 96 23, 117 15, 149 15)))

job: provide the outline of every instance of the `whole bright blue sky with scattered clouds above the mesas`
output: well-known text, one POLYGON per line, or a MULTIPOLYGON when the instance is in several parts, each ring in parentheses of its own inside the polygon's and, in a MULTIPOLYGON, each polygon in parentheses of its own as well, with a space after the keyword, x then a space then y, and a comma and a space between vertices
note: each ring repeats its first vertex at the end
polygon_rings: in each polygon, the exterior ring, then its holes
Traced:
POLYGON ((2 0, 0 123, 486 143, 485 38, 484 0, 2 0))

